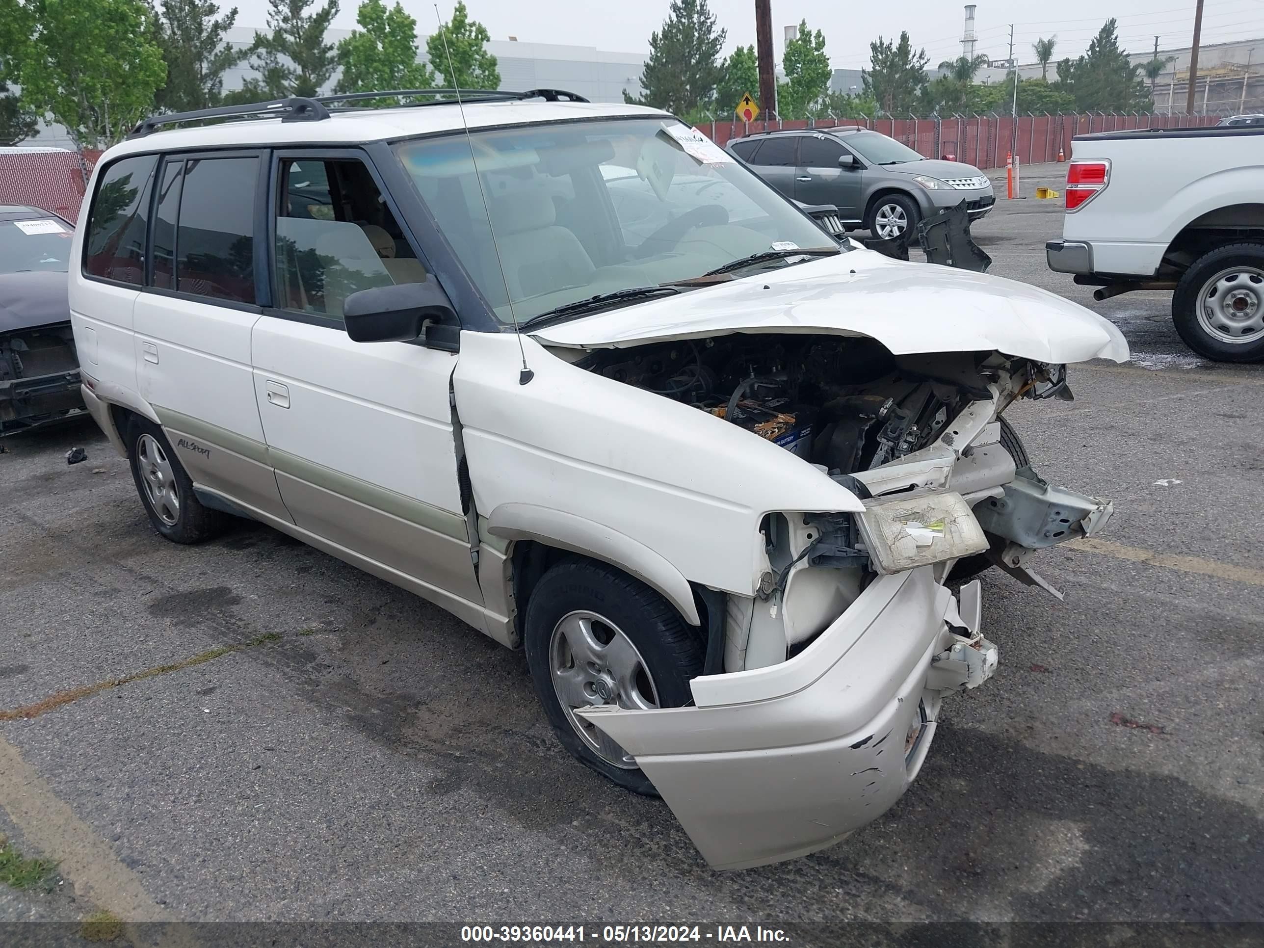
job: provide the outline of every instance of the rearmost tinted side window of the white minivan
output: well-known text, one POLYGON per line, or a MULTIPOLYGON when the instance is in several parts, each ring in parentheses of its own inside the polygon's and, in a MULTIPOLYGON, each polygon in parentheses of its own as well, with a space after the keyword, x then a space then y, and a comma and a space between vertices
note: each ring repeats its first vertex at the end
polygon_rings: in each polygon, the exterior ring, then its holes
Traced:
POLYGON ((157 163, 157 155, 143 154, 120 158, 101 172, 83 240, 85 276, 144 286, 145 231, 157 163))

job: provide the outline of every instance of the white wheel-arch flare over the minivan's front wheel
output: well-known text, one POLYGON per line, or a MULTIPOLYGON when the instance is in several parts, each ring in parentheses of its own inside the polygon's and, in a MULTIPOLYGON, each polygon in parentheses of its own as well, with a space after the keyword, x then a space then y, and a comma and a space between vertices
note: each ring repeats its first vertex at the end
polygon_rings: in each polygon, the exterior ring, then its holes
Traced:
POLYGON ((487 532, 502 540, 537 540, 618 566, 659 590, 690 626, 702 624, 693 588, 680 570, 612 527, 530 503, 502 503, 487 520, 487 532))

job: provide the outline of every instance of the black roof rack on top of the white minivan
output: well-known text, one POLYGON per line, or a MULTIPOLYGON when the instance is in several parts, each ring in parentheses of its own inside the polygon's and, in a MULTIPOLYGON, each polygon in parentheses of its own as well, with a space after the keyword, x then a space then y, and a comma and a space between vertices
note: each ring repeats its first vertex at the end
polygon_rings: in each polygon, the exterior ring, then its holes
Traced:
MULTIPOLYGON (((546 102, 586 102, 584 96, 568 92, 564 88, 531 88, 526 92, 509 92, 494 88, 392 88, 382 92, 340 92, 331 96, 289 96, 288 99, 273 99, 267 102, 249 102, 245 105, 224 105, 216 109, 196 109, 187 112, 171 112, 168 115, 152 115, 137 125, 128 138, 144 138, 152 131, 157 131, 163 125, 176 125, 185 121, 205 121, 209 119, 244 119, 246 116, 272 119, 279 118, 282 121, 321 121, 330 118, 331 112, 326 106, 339 106, 344 102, 364 102, 375 99, 423 99, 425 101, 412 102, 421 105, 451 105, 463 102, 489 102, 497 100, 522 100, 544 99, 546 102)), ((346 106, 344 106, 346 107, 346 106)), ((350 109, 372 109, 368 106, 350 106, 350 109)))

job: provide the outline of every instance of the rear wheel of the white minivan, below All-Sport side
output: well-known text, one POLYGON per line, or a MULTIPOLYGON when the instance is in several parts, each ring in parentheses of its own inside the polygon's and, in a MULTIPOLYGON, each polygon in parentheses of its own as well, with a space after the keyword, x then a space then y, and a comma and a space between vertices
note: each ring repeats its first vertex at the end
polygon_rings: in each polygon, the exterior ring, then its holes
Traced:
POLYGON ((161 427, 133 416, 125 437, 131 479, 154 530, 173 544, 200 544, 224 532, 228 514, 198 502, 193 482, 161 427))

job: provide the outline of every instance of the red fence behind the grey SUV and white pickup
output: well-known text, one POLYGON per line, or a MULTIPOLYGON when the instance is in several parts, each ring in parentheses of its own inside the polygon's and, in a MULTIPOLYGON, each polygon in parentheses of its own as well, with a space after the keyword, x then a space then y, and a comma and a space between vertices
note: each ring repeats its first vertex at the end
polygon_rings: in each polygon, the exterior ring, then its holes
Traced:
POLYGON ((949 119, 799 119, 786 121, 714 121, 696 128, 717 144, 757 131, 863 126, 899 139, 928 158, 952 157, 976 168, 1004 168, 1012 147, 1024 164, 1058 161, 1058 148, 1071 157, 1071 139, 1093 131, 1196 128, 1215 125, 1218 115, 1020 115, 1015 134, 1009 115, 956 115, 949 119))

